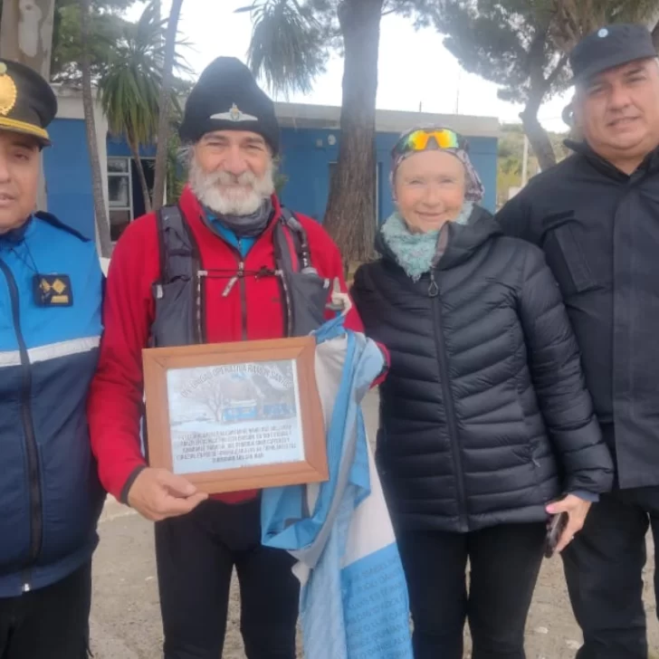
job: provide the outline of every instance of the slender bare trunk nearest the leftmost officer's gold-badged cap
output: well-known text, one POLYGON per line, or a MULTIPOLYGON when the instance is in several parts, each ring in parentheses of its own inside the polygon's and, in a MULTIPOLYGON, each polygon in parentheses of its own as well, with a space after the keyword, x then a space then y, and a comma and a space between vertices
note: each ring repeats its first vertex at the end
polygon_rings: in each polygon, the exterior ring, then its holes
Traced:
POLYGON ((99 236, 100 255, 110 258, 112 239, 110 223, 103 194, 103 177, 100 170, 99 145, 96 138, 96 119, 94 118, 94 98, 91 91, 91 0, 80 0, 81 11, 81 70, 82 70, 82 105, 84 108, 85 129, 87 131, 87 150, 90 154, 91 187, 94 199, 94 215, 99 236))

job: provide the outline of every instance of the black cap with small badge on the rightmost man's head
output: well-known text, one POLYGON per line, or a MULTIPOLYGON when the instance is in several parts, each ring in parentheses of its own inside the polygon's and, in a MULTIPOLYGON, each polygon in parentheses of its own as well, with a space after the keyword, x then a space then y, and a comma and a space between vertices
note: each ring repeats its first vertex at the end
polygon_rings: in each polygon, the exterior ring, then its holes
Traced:
POLYGON ((585 36, 570 53, 572 83, 578 84, 616 66, 656 56, 652 34, 645 25, 606 25, 585 36))

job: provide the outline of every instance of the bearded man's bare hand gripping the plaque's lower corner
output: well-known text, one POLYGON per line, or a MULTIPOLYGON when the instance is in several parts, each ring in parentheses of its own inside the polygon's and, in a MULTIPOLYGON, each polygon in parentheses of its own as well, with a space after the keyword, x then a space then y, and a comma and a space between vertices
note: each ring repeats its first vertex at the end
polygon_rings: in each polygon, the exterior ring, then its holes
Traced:
POLYGON ((144 469, 129 490, 129 505, 150 521, 167 520, 195 510, 208 498, 195 485, 167 469, 144 469))

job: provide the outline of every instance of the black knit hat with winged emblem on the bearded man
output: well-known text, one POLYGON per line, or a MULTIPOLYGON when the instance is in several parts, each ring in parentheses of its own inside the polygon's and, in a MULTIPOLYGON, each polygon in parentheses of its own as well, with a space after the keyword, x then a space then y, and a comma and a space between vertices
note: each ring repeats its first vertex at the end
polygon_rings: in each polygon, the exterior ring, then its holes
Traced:
POLYGON ((186 101, 181 140, 194 143, 214 130, 251 130, 279 151, 279 123, 274 103, 252 72, 234 57, 218 57, 202 72, 186 101))

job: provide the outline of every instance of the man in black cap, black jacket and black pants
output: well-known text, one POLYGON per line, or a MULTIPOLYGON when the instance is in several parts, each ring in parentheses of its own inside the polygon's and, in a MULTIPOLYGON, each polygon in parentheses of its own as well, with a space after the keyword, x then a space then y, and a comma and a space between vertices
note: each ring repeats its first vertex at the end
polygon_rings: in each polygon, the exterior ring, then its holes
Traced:
POLYGON ((588 35, 570 62, 584 142, 498 219, 546 253, 616 457, 615 491, 563 554, 578 659, 645 659, 645 535, 659 533, 659 65, 640 25, 588 35))

